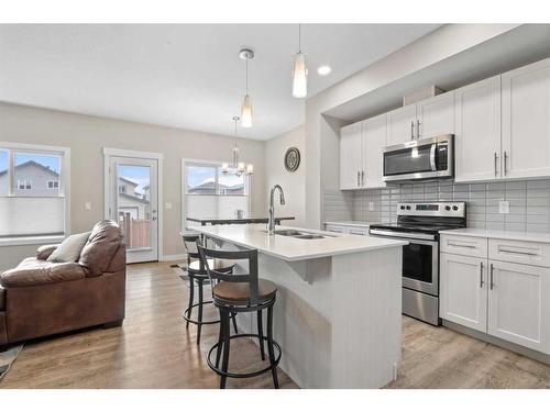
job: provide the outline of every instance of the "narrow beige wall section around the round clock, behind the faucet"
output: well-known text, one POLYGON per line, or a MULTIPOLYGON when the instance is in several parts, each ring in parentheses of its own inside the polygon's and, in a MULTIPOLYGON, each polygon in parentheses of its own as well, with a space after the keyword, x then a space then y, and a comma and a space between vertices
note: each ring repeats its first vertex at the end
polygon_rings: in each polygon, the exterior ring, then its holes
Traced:
MULTIPOLYGON (((304 125, 293 129, 265 142, 265 196, 266 204, 270 201, 270 190, 274 185, 280 185, 285 192, 285 204, 278 204, 278 194, 275 199, 275 214, 278 216, 295 216, 288 225, 304 227, 306 224, 306 158, 304 125), (285 153, 289 147, 300 151, 300 166, 296 171, 285 168, 285 153)), ((265 210, 265 213, 267 210, 265 210)))

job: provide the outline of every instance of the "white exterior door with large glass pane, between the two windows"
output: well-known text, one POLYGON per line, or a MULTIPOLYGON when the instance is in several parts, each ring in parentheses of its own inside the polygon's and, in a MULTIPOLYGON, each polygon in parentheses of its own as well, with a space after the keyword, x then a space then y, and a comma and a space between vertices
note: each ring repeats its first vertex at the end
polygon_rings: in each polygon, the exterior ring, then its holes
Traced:
POLYGON ((109 219, 124 232, 127 261, 158 260, 158 160, 110 157, 109 219))

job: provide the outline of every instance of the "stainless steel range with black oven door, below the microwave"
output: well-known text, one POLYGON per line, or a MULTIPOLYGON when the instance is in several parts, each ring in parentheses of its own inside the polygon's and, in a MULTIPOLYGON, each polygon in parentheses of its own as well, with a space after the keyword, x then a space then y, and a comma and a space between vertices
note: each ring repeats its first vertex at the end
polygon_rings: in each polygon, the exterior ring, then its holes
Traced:
POLYGON ((373 224, 373 236, 403 247, 403 313, 439 325, 439 231, 466 226, 465 202, 398 203, 397 223, 373 224))

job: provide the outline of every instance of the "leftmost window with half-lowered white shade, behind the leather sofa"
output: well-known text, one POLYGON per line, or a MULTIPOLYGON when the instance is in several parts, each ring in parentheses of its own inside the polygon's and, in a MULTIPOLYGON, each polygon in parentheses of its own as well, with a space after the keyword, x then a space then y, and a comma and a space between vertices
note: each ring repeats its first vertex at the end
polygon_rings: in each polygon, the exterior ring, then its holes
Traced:
POLYGON ((64 147, 0 142, 0 243, 68 232, 69 156, 64 147))

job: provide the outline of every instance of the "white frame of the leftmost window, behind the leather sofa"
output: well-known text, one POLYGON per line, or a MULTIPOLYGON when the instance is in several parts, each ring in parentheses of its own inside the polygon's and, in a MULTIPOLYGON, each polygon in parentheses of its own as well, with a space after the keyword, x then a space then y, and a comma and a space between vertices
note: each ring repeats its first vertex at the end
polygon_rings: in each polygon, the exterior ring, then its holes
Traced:
MULTIPOLYGON (((1 198, 18 198, 14 193, 14 159, 15 152, 38 155, 61 156, 61 171, 58 180, 59 198, 65 199, 64 234, 63 235, 37 235, 37 236, 10 236, 0 238, 0 246, 34 245, 63 241, 70 234, 70 148, 64 146, 51 146, 38 144, 26 144, 15 142, 0 142, 0 151, 8 152, 8 193, 0 193, 1 198)), ((31 182, 32 186, 32 182, 31 182)), ((26 182, 25 182, 26 187, 26 182)), ((25 189, 29 190, 29 189, 25 189)))

